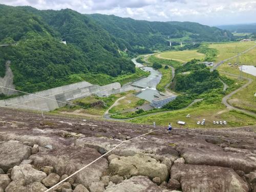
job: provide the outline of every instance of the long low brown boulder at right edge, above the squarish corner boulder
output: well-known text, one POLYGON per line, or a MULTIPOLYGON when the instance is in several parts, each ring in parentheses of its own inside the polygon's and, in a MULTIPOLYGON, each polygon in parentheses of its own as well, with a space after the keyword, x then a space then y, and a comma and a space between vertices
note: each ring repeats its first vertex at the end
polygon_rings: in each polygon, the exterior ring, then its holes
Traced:
POLYGON ((205 148, 187 148, 181 152, 187 164, 230 167, 250 173, 256 169, 256 158, 242 153, 210 151, 205 148))

